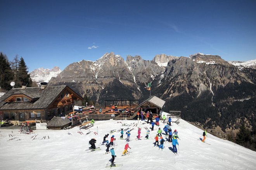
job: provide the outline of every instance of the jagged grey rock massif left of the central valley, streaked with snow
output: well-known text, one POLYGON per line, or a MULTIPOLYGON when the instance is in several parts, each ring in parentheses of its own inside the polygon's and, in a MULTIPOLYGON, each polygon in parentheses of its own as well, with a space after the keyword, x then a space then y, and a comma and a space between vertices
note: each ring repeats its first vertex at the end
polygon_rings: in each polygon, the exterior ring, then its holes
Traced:
POLYGON ((67 84, 76 91, 88 94, 93 100, 108 98, 141 98, 144 87, 164 69, 140 56, 127 56, 125 61, 114 53, 106 53, 95 62, 82 60, 67 66, 50 85, 67 84), (123 89, 128 94, 115 93, 123 89))

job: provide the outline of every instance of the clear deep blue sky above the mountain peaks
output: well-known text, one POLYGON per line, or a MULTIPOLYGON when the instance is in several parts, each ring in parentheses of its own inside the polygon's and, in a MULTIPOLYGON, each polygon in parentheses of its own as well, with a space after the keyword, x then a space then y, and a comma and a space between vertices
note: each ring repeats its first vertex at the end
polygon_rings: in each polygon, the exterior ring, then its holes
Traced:
POLYGON ((0 7, 0 52, 23 57, 29 71, 63 70, 106 52, 125 60, 197 52, 256 59, 255 0, 0 0, 0 7))

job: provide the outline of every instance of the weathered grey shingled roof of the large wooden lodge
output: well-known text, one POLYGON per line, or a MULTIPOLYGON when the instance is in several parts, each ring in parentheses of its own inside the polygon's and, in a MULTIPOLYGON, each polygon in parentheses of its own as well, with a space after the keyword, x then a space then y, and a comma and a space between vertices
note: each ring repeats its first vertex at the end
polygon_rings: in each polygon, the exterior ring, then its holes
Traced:
POLYGON ((56 98, 67 88, 72 91, 82 100, 82 97, 75 93, 68 86, 46 86, 44 89, 41 87, 31 87, 26 89, 13 88, 2 97, 0 97, 0 110, 29 110, 29 109, 46 109, 56 98), (32 99, 32 101, 11 102, 7 103, 5 100, 12 95, 24 94, 32 99), (38 99, 38 100, 36 100, 38 99))

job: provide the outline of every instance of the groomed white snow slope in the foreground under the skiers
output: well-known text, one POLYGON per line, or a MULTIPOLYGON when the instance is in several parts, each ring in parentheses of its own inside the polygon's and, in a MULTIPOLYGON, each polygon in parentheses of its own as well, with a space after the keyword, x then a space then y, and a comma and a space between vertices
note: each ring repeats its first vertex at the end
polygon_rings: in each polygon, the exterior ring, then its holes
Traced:
MULTIPOLYGON (((110 164, 111 153, 105 155, 105 145, 102 143, 105 134, 109 134, 108 139, 114 135, 116 141, 114 151, 116 153, 116 164, 123 163, 123 167, 113 167, 115 170, 152 170, 152 169, 175 169, 175 170, 254 170, 256 167, 256 152, 225 141, 208 134, 206 142, 199 141, 203 131, 180 120, 180 124, 172 124, 173 131, 178 131, 179 146, 178 155, 172 151, 172 145, 167 141, 163 151, 154 147, 154 137, 158 127, 150 131, 148 140, 135 140, 138 127, 142 127, 141 136, 144 139, 146 130, 144 127, 151 127, 137 120, 107 120, 96 121, 90 129, 81 129, 83 134, 79 134, 79 127, 69 130, 35 130, 33 134, 20 134, 18 130, 0 131, 0 160, 3 162, 2 169, 24 169, 26 170, 81 170, 97 169, 105 170, 110 164), (121 123, 120 123, 121 122, 121 123), (132 124, 130 155, 121 156, 126 144, 125 140, 119 139, 120 132, 110 133, 111 130, 128 128, 122 124, 132 124), (137 126, 135 126, 137 124, 137 126), (87 132, 92 131, 86 135, 87 132), (98 135, 93 133, 98 132, 98 135), (69 135, 70 133, 71 135, 69 135), (12 136, 10 136, 10 134, 12 136), (35 137, 35 135, 38 135, 35 137), (45 139, 43 138, 45 136, 45 139), (49 136, 49 138, 48 138, 49 136), (14 139, 17 137, 16 139, 14 139), (33 140, 35 137, 35 140, 33 140), (88 141, 92 138, 97 140, 96 147, 101 150, 89 152, 88 141), (13 140, 10 140, 13 139, 13 140)), ((164 124, 160 123, 161 129, 164 124)), ((124 135, 126 137, 126 135, 124 135)))

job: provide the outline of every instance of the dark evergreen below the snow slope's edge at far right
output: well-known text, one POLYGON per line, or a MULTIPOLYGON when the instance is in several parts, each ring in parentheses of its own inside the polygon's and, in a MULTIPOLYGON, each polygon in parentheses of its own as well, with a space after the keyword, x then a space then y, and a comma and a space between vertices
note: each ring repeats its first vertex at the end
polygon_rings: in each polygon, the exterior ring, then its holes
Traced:
POLYGON ((249 129, 247 129, 245 127, 244 124, 242 124, 239 127, 239 131, 237 132, 236 143, 241 145, 241 146, 244 146, 246 143, 248 143, 250 141, 251 141, 250 131, 249 131, 249 129))

